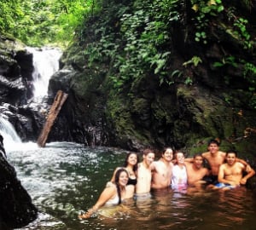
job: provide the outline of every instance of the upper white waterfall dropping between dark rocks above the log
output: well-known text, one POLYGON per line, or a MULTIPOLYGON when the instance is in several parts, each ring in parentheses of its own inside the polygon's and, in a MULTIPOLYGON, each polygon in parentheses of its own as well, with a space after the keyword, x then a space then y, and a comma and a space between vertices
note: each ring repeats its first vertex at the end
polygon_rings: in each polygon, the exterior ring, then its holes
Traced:
POLYGON ((47 95, 49 78, 59 70, 61 49, 26 47, 33 55, 34 71, 32 73, 34 97, 47 95))

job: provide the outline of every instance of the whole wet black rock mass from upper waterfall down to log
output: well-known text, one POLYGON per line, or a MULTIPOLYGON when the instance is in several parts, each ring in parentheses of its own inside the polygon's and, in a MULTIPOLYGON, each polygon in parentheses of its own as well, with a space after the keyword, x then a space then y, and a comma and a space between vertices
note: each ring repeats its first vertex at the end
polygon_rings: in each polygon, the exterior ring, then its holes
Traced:
POLYGON ((45 101, 32 101, 32 54, 8 37, 0 37, 0 112, 21 141, 36 141, 45 120, 45 101))

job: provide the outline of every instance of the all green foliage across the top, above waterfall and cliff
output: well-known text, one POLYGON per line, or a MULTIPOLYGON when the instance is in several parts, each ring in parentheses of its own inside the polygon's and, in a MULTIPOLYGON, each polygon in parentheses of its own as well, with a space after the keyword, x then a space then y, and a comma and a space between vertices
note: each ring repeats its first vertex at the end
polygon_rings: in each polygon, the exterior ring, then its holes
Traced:
MULTIPOLYGON (((172 46, 177 40, 183 45, 207 47, 222 43, 226 36, 248 57, 253 55, 255 25, 244 14, 252 4, 247 0, 6 0, 0 5, 0 32, 32 46, 67 46, 79 40, 88 66, 100 62, 111 65, 108 74, 113 89, 128 90, 131 95, 129 90, 141 78, 158 79, 160 86, 198 81, 195 70, 205 65, 205 60, 195 49, 183 54, 182 63, 175 63, 177 53, 172 46)), ((209 63, 221 71, 228 66, 242 69, 241 78, 247 80, 252 94, 256 89, 255 65, 250 58, 229 52, 209 63)), ((229 78, 224 74, 224 83, 231 83, 229 78)))

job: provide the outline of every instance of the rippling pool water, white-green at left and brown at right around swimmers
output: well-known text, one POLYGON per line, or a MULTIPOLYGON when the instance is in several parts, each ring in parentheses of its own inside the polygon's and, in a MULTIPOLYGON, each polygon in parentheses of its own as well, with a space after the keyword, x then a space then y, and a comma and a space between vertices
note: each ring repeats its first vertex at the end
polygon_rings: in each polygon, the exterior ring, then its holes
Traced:
POLYGON ((40 210, 38 220, 23 230, 255 229, 256 196, 245 187, 225 192, 154 191, 151 198, 129 199, 79 221, 79 211, 95 204, 126 152, 66 142, 45 148, 24 144, 20 149, 7 152, 8 158, 40 210))

